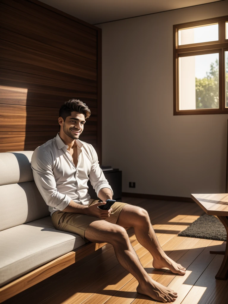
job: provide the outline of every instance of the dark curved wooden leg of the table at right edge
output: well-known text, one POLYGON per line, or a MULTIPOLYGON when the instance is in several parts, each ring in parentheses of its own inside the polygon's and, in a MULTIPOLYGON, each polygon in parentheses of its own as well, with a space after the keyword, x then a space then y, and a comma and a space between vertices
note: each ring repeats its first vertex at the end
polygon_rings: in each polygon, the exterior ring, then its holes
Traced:
MULTIPOLYGON (((218 216, 218 218, 226 228, 226 250, 221 267, 215 278, 217 280, 226 280, 228 278, 228 216, 218 216)), ((210 251, 210 253, 223 254, 222 251, 218 251, 218 253, 216 253, 216 251, 210 251)))

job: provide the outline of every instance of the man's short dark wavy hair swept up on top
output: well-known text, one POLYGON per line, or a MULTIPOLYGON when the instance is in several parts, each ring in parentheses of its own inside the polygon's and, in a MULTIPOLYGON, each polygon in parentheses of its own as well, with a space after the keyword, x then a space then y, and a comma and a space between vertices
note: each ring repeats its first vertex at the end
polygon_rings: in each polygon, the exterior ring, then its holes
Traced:
POLYGON ((70 99, 68 101, 65 101, 64 104, 61 105, 59 109, 59 117, 62 117, 65 121, 67 116, 71 116, 71 112, 73 111, 84 114, 85 119, 89 118, 89 116, 91 115, 90 109, 85 104, 85 102, 82 102, 78 99, 70 99))

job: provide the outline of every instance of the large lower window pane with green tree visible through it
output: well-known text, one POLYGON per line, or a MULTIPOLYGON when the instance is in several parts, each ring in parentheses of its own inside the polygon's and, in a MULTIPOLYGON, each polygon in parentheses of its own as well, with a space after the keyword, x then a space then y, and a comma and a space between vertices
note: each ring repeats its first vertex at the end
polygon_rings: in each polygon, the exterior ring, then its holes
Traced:
POLYGON ((179 109, 218 108, 219 53, 179 57, 179 109))

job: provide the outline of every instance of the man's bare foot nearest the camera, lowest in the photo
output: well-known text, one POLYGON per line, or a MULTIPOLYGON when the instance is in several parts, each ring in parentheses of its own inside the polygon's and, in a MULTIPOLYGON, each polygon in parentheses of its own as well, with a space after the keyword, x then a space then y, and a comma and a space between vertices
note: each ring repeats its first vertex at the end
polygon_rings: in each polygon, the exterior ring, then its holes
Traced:
POLYGON ((174 292, 171 288, 165 287, 160 283, 150 280, 147 283, 141 283, 136 288, 138 293, 148 295, 154 300, 162 301, 163 303, 174 302, 177 298, 177 292, 174 292))

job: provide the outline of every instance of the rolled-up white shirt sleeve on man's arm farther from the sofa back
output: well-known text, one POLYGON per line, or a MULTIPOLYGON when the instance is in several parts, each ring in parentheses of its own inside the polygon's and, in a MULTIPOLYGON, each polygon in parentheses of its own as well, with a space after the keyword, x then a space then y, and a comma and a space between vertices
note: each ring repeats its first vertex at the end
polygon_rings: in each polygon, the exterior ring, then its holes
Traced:
MULTIPOLYGON (((105 178, 102 169, 100 168, 96 150, 92 145, 91 147, 92 147, 93 161, 92 161, 91 171, 89 173, 89 180, 98 196, 98 193, 102 188, 109 188, 111 189, 111 191, 112 188, 109 185, 107 179, 105 178)), ((113 191, 112 191, 112 195, 113 195, 113 191)))

